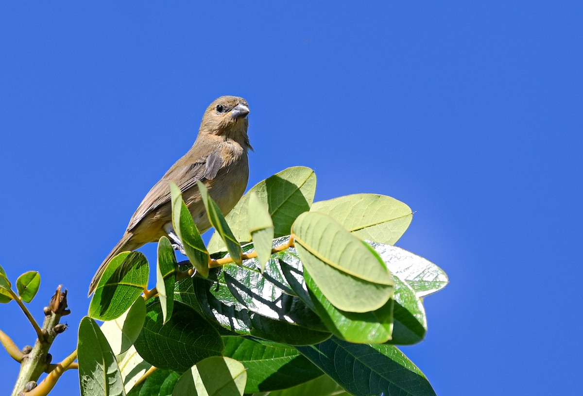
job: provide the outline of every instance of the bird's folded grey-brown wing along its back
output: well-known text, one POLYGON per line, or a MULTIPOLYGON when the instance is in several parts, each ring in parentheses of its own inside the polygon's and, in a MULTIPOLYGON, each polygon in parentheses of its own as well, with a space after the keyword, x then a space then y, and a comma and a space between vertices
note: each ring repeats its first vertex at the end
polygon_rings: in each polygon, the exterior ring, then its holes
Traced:
POLYGON ((176 162, 173 167, 168 169, 166 175, 146 194, 146 197, 129 221, 128 231, 136 227, 148 213, 170 202, 170 186, 168 185, 168 181, 175 182, 178 188, 184 192, 194 186, 198 180, 214 179, 223 165, 223 160, 218 150, 210 153, 206 157, 198 158, 198 161, 194 163, 182 165, 183 162, 180 160, 176 162))

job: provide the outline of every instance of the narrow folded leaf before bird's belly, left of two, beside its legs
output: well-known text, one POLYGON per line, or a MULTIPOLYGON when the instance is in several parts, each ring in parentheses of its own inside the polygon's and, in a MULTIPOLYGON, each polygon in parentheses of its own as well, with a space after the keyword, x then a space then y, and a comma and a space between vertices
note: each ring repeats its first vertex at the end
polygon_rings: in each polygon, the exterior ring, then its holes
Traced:
POLYGON ((192 220, 188 207, 182 200, 180 188, 174 182, 169 183, 172 201, 172 227, 182 241, 182 248, 184 248, 188 260, 196 268, 196 271, 206 278, 209 275, 209 252, 206 250, 205 242, 202 241, 201 234, 192 220))

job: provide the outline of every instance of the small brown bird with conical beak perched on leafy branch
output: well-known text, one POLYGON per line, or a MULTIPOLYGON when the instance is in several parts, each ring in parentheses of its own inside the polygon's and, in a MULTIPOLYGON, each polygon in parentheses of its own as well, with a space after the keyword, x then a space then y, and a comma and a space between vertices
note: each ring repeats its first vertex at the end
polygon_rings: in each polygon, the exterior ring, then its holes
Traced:
POLYGON ((157 242, 163 235, 170 234, 178 242, 172 228, 168 181, 175 182, 182 191, 182 199, 201 234, 210 228, 210 222, 197 180, 204 183, 223 214, 229 213, 243 196, 249 177, 247 150, 253 148, 247 136, 247 114, 249 105, 240 97, 222 96, 210 104, 194 145, 147 193, 124 236, 93 276, 88 295, 95 291, 107 263, 118 253, 157 242))

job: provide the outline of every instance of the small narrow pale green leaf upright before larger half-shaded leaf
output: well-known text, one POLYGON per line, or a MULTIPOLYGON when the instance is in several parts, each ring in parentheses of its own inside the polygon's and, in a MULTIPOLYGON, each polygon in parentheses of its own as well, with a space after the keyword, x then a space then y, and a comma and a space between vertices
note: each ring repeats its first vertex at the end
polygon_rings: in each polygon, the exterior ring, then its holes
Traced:
POLYGON ((273 221, 266 205, 259 200, 257 193, 249 195, 249 231, 253 239, 257 259, 261 264, 261 272, 265 270, 265 263, 271 257, 273 243, 273 221))

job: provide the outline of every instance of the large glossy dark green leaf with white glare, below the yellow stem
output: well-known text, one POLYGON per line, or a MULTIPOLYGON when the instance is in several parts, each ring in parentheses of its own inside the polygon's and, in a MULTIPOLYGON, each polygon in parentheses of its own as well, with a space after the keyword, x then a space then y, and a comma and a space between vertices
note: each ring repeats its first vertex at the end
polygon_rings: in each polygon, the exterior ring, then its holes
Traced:
MULTIPOLYGON (((245 251, 251 246, 246 245, 245 251)), ((307 345, 328 338, 318 316, 297 296, 288 294, 277 275, 272 276, 276 261, 269 261, 264 274, 258 265, 255 259, 245 260, 241 267, 227 264, 220 274, 212 271, 208 280, 194 278, 203 312, 231 331, 270 341, 307 345)))

